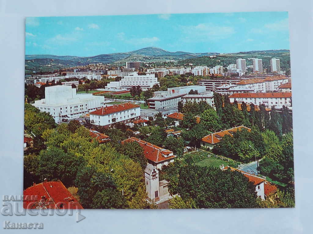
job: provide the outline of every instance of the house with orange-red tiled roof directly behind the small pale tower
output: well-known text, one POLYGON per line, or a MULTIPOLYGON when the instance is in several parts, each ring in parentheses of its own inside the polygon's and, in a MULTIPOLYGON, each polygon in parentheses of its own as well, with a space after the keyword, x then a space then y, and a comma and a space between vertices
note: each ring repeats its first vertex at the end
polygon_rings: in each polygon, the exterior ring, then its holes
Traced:
POLYGON ((129 142, 137 142, 144 151, 145 157, 148 160, 148 163, 152 164, 159 170, 162 169, 162 166, 168 165, 169 163, 174 162, 176 155, 168 149, 163 149, 159 146, 153 145, 149 142, 140 140, 136 137, 130 137, 122 141, 122 144, 129 142))

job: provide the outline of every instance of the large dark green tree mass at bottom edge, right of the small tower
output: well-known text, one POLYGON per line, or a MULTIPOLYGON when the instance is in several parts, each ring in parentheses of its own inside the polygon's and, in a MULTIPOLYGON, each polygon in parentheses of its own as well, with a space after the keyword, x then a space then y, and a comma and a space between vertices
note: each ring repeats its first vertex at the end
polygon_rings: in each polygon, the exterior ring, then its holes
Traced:
POLYGON ((254 183, 230 169, 184 166, 179 170, 178 186, 173 193, 179 194, 184 202, 192 199, 199 208, 257 207, 254 183))

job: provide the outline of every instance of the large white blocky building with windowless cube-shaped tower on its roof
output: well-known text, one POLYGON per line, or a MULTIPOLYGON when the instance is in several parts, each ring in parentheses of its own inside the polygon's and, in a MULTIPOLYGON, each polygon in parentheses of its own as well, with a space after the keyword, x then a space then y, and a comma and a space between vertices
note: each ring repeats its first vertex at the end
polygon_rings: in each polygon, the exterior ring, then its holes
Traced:
POLYGON ((45 88, 45 99, 36 100, 33 106, 49 113, 56 123, 62 118, 74 118, 103 106, 104 97, 76 94, 71 86, 55 85, 45 88))

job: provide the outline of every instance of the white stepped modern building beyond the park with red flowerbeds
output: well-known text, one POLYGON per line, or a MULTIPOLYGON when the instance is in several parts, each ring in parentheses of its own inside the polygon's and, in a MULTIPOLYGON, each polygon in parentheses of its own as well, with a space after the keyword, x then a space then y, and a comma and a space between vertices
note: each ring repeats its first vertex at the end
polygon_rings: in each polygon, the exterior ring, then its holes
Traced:
POLYGON ((105 86, 108 90, 125 90, 132 86, 140 86, 143 91, 151 89, 153 85, 160 85, 154 74, 138 75, 138 72, 129 73, 120 81, 111 81, 105 86))

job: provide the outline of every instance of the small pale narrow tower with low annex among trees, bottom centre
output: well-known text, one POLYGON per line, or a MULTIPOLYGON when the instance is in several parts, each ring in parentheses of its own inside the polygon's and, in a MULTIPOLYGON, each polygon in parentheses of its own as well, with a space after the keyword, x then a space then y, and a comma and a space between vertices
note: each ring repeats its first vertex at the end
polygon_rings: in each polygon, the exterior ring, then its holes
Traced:
POLYGON ((145 168, 145 184, 146 193, 151 201, 161 203, 172 198, 167 187, 169 182, 159 181, 159 170, 151 164, 147 164, 145 168))

